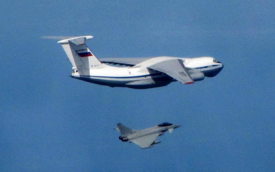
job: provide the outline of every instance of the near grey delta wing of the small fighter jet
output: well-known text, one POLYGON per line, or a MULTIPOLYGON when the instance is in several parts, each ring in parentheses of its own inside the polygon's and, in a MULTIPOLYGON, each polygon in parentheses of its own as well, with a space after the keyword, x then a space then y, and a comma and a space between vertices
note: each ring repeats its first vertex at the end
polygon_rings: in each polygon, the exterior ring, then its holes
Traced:
POLYGON ((150 148, 153 147, 153 143, 156 141, 160 133, 151 134, 148 136, 140 137, 134 140, 131 140, 131 142, 139 145, 142 149, 143 148, 150 148))

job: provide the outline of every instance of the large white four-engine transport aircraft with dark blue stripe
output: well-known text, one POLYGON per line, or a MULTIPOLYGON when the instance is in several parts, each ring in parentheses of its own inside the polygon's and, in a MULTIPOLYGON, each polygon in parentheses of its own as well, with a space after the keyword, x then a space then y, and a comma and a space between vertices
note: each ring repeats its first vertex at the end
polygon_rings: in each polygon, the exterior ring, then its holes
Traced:
POLYGON ((191 84, 214 77, 223 64, 213 57, 181 58, 103 58, 98 59, 86 46, 93 36, 79 36, 58 41, 72 63, 72 77, 110 87, 147 89, 173 81, 191 84))

